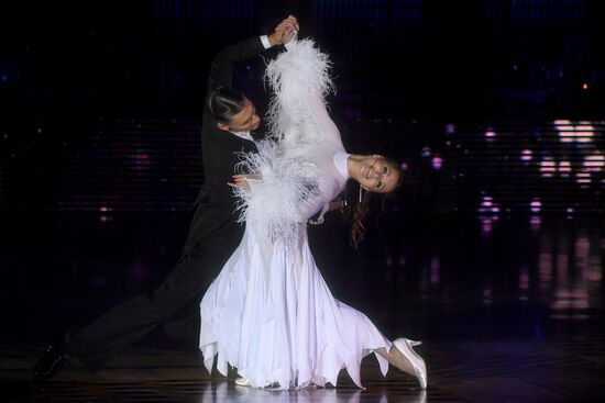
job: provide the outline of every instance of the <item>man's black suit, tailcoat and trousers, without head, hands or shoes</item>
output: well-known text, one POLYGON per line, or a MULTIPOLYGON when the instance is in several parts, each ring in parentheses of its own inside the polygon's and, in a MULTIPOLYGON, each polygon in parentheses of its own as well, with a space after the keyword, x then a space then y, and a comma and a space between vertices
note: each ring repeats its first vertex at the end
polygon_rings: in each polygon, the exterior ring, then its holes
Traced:
MULTIPOLYGON (((231 45, 212 61, 208 92, 231 86, 240 61, 264 51, 258 37, 231 45)), ((123 302, 74 333, 66 351, 96 371, 161 323, 183 315, 187 333, 199 339, 199 302, 212 279, 239 245, 243 225, 235 222, 231 181, 237 152, 255 150, 254 143, 221 131, 204 110, 201 148, 206 181, 194 204, 183 254, 168 277, 153 291, 123 302), (185 314, 184 314, 185 313, 185 314)))

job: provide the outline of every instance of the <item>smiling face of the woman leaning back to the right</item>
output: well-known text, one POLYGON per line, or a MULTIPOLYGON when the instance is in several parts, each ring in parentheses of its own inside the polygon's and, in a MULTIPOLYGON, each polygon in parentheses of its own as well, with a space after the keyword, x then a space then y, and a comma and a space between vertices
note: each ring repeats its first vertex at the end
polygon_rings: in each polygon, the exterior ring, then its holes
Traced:
POLYGON ((388 193, 397 186, 399 169, 380 155, 363 158, 359 167, 358 181, 370 192, 388 193))

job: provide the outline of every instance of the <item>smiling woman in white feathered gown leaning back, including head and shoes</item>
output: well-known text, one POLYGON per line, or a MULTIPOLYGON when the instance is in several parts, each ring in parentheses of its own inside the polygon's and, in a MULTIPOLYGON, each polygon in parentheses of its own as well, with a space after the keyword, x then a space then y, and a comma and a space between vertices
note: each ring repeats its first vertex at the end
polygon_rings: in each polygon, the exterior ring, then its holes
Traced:
POLYGON ((383 374, 391 362, 426 389, 416 343, 389 342, 334 299, 307 240, 307 220, 321 212, 321 221, 350 177, 369 191, 388 192, 399 169, 380 156, 345 153, 323 101, 331 86, 326 55, 311 41, 287 48, 267 66, 273 137, 258 144, 258 154, 243 156, 260 179, 235 189, 245 234, 200 304, 205 365, 210 371, 218 356, 222 374, 229 363, 243 377, 239 383, 279 389, 336 385, 345 368, 362 388, 361 360, 375 352, 383 374))

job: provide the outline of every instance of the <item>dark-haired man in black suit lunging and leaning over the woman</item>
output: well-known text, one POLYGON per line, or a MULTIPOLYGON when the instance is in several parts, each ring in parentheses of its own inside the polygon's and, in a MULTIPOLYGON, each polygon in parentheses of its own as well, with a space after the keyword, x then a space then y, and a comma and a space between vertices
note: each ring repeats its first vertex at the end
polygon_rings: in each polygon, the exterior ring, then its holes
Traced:
POLYGON ((250 131, 261 123, 254 104, 231 88, 234 66, 288 43, 297 32, 296 18, 289 15, 271 35, 237 43, 215 57, 201 130, 206 181, 196 198, 194 219, 176 267, 155 290, 114 306, 64 343, 48 346, 34 366, 34 381, 51 379, 73 357, 96 372, 187 306, 195 305, 199 315, 201 296, 243 236, 242 225, 235 222, 235 199, 229 182, 238 163, 235 153, 256 149, 250 131))

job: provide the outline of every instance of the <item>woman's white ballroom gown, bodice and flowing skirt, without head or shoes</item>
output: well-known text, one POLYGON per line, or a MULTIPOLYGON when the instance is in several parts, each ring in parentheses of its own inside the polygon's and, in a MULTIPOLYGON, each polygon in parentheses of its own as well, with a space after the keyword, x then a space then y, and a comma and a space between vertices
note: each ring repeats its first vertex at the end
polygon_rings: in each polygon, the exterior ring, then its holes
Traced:
MULTIPOLYGON (((314 65, 312 55, 311 61, 299 57, 311 47, 310 41, 299 42, 294 51, 288 47, 289 52, 280 56, 282 61, 314 65)), ((292 70, 287 66, 280 75, 292 70)), ((280 76, 280 82, 286 78, 280 76)), ((261 169, 263 179, 252 183, 248 197, 257 197, 258 204, 248 201, 243 239, 200 304, 200 349, 206 367, 210 371, 218 355, 217 369, 222 374, 227 376, 229 363, 253 387, 274 382, 282 389, 328 382, 337 385, 338 374, 345 368, 362 388, 362 358, 377 348, 388 350, 392 345, 363 313, 331 294, 309 249, 306 221, 319 211, 324 212, 348 179, 348 155, 326 110, 321 94, 324 88, 326 82, 312 81, 297 87, 298 103, 294 108, 298 116, 282 128, 287 131, 288 125, 296 125, 304 130, 290 131, 274 144, 273 148, 282 147, 277 157, 267 155, 271 164, 279 158, 286 163, 274 165, 273 171, 261 169), (298 141, 290 142, 288 136, 298 136, 298 141), (289 168, 283 168, 284 164, 289 168), (292 186, 297 171, 302 177, 310 176, 312 191, 308 183, 302 188, 292 186), (268 183, 272 180, 273 184, 268 183), (295 193, 300 189, 306 189, 304 200, 295 193), (278 200, 272 203, 270 198, 278 200), (286 230, 263 227, 263 220, 284 221, 283 216, 288 214, 294 217, 286 230)), ((277 97, 279 102, 274 108, 288 108, 277 97)), ((377 354, 376 357, 386 374, 388 362, 377 354)))

